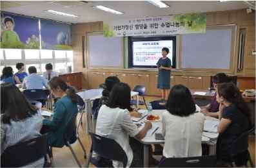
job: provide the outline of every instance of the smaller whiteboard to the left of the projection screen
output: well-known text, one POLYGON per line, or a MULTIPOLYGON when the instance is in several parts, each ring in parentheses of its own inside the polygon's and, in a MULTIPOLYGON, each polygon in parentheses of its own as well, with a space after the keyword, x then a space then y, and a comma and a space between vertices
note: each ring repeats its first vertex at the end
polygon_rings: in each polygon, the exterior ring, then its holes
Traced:
POLYGON ((123 37, 106 38, 102 33, 87 36, 89 67, 123 68, 123 37))

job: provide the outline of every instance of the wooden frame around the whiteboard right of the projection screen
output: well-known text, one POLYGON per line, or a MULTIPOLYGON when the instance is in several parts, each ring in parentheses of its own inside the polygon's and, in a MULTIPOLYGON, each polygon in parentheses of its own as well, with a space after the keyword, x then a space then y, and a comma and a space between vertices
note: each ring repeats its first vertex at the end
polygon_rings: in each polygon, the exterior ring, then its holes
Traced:
POLYGON ((181 65, 182 62, 182 35, 179 40, 179 67, 183 71, 201 71, 201 72, 227 72, 233 73, 235 72, 235 46, 236 46, 236 38, 237 38, 237 25, 236 24, 222 24, 222 25, 214 25, 214 26, 206 26, 207 29, 224 29, 225 27, 233 27, 231 31, 231 47, 230 47, 230 68, 229 69, 187 69, 183 68, 181 65))

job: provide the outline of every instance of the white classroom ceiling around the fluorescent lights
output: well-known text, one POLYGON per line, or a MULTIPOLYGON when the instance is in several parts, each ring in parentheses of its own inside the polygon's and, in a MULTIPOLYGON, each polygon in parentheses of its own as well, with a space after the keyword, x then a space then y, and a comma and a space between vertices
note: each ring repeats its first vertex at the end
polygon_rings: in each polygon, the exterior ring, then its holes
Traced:
POLYGON ((148 1, 1 1, 1 11, 19 13, 55 21, 70 23, 112 21, 146 16, 161 16, 177 13, 212 12, 248 8, 244 1, 164 1, 170 8, 158 8, 148 1), (124 12, 123 15, 107 13, 92 6, 103 5, 124 12), (78 15, 64 17, 45 12, 59 12, 78 15))

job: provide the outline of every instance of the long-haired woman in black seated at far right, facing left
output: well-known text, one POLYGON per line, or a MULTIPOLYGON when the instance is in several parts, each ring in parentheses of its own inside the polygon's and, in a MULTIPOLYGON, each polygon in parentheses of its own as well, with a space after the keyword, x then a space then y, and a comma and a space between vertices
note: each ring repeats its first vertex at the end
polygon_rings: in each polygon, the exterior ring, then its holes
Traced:
MULTIPOLYGON (((217 85, 217 101, 219 106, 219 119, 217 130, 218 139, 217 156, 219 160, 229 160, 230 144, 244 131, 250 129, 250 110, 242 98, 239 88, 233 83, 217 85)), ((241 146, 248 145, 241 144, 241 146)), ((247 150, 244 149, 244 151, 247 150)), ((237 151, 239 152, 239 151, 237 151)))

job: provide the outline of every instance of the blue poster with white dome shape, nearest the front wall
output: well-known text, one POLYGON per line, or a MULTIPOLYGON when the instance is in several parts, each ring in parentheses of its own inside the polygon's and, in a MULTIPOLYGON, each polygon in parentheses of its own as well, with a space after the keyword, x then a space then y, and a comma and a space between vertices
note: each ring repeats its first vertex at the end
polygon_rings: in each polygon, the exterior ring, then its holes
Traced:
POLYGON ((41 19, 42 49, 72 49, 71 25, 41 19))

